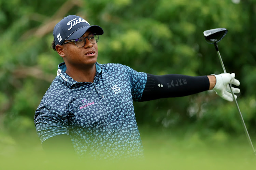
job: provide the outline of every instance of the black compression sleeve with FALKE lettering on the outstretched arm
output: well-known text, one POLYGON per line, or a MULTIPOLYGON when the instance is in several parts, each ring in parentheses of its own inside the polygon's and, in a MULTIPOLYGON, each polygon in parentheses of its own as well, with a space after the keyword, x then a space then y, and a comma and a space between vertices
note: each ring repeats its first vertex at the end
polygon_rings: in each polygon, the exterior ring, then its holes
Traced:
POLYGON ((147 82, 140 101, 182 97, 209 90, 208 77, 180 74, 153 75, 147 73, 147 82))

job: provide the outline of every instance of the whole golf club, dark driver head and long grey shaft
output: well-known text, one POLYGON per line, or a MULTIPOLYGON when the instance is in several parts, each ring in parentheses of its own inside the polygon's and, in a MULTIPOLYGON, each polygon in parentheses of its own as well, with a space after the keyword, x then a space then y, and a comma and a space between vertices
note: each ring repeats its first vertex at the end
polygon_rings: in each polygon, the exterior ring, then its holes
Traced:
MULTIPOLYGON (((221 54, 219 53, 219 49, 218 49, 217 43, 220 40, 222 40, 222 38, 227 34, 227 32, 228 32, 228 30, 226 28, 216 28, 216 29, 206 30, 206 31, 203 32, 204 38, 207 41, 207 43, 214 44, 215 49, 216 49, 217 54, 218 54, 218 57, 219 57, 219 61, 221 62, 221 65, 222 65, 224 73, 227 73, 227 72, 226 72, 225 66, 223 64, 223 61, 222 61, 222 58, 221 58, 221 54)), ((232 93, 234 102, 236 103, 236 106, 237 106, 237 109, 238 109, 238 112, 239 112, 239 116, 240 116, 240 119, 241 119, 241 122, 242 122, 242 125, 243 125, 243 128, 244 128, 245 135, 247 137, 248 142, 251 144, 251 147, 253 149, 254 154, 256 155, 255 149, 253 147, 252 140, 251 140, 250 135, 249 135, 249 133, 247 131, 246 125, 244 123, 243 116, 241 114, 240 108, 239 108, 238 103, 237 103, 237 99, 234 97, 234 93, 232 91, 232 88, 231 88, 232 86, 231 86, 230 83, 229 83, 229 87, 230 87, 230 91, 232 93)))

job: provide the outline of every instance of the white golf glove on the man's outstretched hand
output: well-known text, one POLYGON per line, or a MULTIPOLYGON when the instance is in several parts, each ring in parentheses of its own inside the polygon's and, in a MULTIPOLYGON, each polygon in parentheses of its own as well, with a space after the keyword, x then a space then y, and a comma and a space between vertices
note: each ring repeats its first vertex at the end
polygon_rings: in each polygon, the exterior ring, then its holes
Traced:
MULTIPOLYGON (((221 96, 221 98, 232 102, 233 96, 230 91, 230 87, 228 83, 234 84, 236 86, 240 85, 240 82, 235 79, 235 73, 222 73, 222 74, 212 74, 216 77, 216 84, 213 87, 213 90, 216 92, 217 95, 221 96)), ((239 93, 239 88, 232 87, 233 93, 239 93)), ((234 95, 235 98, 237 98, 237 95, 234 95)))

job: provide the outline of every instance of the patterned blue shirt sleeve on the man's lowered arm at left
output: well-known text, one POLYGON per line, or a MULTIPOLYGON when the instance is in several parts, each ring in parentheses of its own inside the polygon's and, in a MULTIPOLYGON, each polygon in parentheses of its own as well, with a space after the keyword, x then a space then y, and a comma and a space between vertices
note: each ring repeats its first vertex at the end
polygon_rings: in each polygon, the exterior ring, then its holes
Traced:
POLYGON ((68 115, 54 106, 40 104, 34 123, 41 142, 56 135, 69 135, 68 115))

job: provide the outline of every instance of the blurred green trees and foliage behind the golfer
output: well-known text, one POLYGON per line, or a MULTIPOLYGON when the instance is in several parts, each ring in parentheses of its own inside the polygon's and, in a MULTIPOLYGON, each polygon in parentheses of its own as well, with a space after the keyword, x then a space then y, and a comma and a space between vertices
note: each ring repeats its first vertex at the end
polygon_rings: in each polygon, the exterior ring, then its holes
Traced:
MULTIPOLYGON (((0 7, 0 143, 36 135, 34 112, 62 62, 51 49, 53 28, 70 14, 103 28, 99 63, 157 75, 222 73, 203 31, 227 28, 219 50, 227 72, 241 82, 238 104, 256 135, 256 0, 0 0, 0 7)), ((235 104, 213 91, 134 102, 134 108, 139 127, 244 135, 235 104)))

